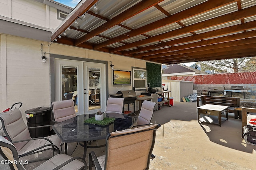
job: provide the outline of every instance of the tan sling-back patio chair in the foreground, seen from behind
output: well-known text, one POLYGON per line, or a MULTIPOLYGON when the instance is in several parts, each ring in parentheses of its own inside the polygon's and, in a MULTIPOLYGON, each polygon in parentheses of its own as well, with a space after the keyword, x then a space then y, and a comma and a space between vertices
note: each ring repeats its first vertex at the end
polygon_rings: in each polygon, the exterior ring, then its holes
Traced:
POLYGON ((106 155, 89 154, 89 170, 145 170, 150 158, 160 124, 125 129, 109 133, 106 137, 106 155))

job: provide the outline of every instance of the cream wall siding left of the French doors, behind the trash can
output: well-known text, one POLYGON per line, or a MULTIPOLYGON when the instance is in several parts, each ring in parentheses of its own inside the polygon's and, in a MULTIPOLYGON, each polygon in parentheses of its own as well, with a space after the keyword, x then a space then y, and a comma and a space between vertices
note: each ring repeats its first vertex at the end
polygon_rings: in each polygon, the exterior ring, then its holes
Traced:
POLYGON ((49 63, 42 63, 41 43, 6 36, 7 105, 22 102, 22 113, 38 106, 50 106, 49 63))

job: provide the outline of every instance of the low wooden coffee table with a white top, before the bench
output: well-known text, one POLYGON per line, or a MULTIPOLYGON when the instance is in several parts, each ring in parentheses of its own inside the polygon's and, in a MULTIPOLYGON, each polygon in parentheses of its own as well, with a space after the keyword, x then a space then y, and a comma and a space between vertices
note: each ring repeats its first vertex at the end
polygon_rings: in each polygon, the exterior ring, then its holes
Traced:
MULTIPOLYGON (((200 114, 218 116, 218 125, 221 126, 221 112, 227 108, 228 106, 220 106, 214 104, 205 104, 203 106, 197 107, 198 122, 203 121, 200 120, 200 114)), ((227 114, 226 119, 228 120, 227 114)))

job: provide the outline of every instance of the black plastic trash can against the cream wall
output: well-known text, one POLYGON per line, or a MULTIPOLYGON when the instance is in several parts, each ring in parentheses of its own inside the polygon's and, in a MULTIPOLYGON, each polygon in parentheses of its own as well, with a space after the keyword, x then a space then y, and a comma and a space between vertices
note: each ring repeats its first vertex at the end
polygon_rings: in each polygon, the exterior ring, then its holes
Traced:
MULTIPOLYGON (((28 127, 36 127, 43 125, 50 125, 52 118, 52 107, 36 107, 25 111, 28 127)), ((49 127, 39 127, 29 129, 30 136, 46 137, 50 135, 49 127)))

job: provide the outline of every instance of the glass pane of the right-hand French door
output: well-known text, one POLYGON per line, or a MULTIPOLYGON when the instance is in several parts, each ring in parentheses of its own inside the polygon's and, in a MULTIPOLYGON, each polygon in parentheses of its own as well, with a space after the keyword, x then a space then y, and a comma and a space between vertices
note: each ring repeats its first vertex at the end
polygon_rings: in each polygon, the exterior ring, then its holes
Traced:
POLYGON ((88 75, 89 110, 100 109, 100 68, 88 68, 88 75))

